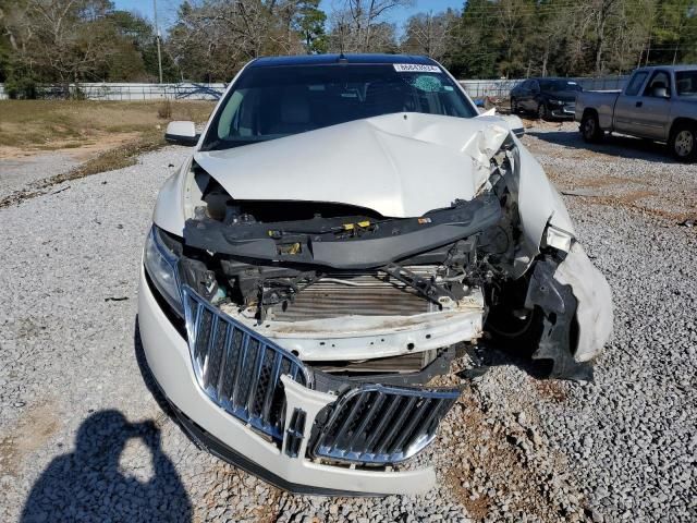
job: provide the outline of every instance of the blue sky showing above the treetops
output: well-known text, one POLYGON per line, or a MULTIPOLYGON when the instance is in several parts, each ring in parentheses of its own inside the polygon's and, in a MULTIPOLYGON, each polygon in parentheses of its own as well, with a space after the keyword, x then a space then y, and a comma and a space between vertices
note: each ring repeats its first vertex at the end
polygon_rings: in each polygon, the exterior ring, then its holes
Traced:
MULTIPOLYGON (((167 27, 176 19, 176 8, 182 0, 157 0, 157 13, 160 26, 167 27)), ((142 15, 152 19, 152 0, 113 0, 117 9, 137 11, 142 15)), ((329 12, 333 4, 341 4, 341 0, 322 0, 321 7, 329 12)), ((391 21, 402 24, 412 14, 419 11, 444 11, 448 8, 462 9, 464 0, 416 0, 416 5, 408 9, 395 10, 391 14, 391 21)))

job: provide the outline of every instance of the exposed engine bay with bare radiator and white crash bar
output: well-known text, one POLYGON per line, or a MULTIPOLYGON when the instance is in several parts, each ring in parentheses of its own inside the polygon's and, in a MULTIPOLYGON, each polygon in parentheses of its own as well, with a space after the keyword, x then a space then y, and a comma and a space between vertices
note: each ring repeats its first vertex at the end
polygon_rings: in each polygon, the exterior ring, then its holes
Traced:
POLYGON ((174 247, 180 277, 328 376, 425 384, 487 332, 545 360, 551 377, 591 379, 590 364, 574 358, 576 297, 553 278, 575 241, 549 226, 529 255, 516 155, 509 136, 473 199, 406 218, 235 199, 194 160, 199 197, 174 247))

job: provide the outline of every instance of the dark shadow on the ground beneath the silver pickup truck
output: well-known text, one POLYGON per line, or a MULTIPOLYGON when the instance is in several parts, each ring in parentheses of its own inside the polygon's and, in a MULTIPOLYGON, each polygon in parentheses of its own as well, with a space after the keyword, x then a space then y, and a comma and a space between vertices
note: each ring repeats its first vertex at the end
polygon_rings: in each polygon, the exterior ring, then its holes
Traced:
POLYGON ((635 158, 656 163, 675 163, 664 144, 650 139, 613 134, 611 136, 607 135, 599 144, 587 144, 578 132, 573 131, 527 130, 525 134, 550 144, 578 150, 588 150, 620 158, 635 158))

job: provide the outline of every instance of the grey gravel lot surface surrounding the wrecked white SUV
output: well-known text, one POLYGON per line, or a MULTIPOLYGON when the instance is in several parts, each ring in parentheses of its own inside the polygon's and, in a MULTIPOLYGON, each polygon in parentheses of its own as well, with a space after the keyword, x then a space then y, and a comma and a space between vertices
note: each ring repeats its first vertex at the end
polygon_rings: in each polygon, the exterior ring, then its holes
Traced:
MULTIPOLYGON (((525 138, 562 187, 617 169, 653 186, 659 169, 697 193, 695 167, 660 150, 623 158, 613 144, 588 153, 562 127, 525 138)), ((437 489, 293 497, 197 450, 140 374, 140 248, 158 186, 185 155, 169 147, 0 209, 0 521, 697 519, 697 229, 676 224, 689 209, 670 187, 653 196, 668 214, 615 198, 619 182, 565 198, 614 291, 595 384, 537 380, 523 362, 487 355, 491 370, 423 457, 437 489)))

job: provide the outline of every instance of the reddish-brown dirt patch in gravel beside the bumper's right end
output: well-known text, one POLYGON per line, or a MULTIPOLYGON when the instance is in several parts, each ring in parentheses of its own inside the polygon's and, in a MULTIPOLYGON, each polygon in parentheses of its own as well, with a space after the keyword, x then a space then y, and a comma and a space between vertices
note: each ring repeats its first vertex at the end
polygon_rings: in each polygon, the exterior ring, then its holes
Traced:
POLYGON ((448 488, 469 515, 486 520, 496 500, 513 521, 583 518, 582 496, 565 481, 565 459, 547 446, 529 416, 493 418, 477 398, 465 390, 455 404, 454 416, 464 423, 454 436, 466 450, 445 473, 448 488), (528 486, 525 492, 519 485, 528 486))

